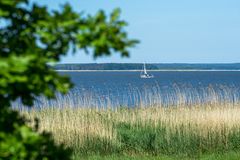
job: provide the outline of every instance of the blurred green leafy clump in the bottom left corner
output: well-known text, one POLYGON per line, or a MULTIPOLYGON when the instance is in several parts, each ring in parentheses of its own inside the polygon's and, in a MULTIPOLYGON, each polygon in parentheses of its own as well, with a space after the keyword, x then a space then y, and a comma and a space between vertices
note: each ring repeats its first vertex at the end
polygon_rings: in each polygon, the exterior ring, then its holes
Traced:
POLYGON ((37 122, 34 129, 27 127, 24 118, 18 112, 1 109, 0 118, 0 159, 70 159, 71 150, 54 142, 51 134, 37 133, 37 122), (4 111, 3 111, 4 110, 4 111))

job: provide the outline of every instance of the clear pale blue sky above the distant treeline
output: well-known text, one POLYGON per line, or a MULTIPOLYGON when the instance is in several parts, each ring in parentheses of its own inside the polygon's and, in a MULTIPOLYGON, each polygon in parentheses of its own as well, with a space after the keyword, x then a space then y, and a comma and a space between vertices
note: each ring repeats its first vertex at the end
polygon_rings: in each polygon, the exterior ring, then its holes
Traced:
MULTIPOLYGON (((36 1, 36 0, 32 0, 36 1)), ((141 41, 130 58, 97 60, 79 51, 62 63, 233 63, 240 62, 240 0, 38 0, 56 9, 69 2, 75 11, 107 13, 116 7, 141 41)))

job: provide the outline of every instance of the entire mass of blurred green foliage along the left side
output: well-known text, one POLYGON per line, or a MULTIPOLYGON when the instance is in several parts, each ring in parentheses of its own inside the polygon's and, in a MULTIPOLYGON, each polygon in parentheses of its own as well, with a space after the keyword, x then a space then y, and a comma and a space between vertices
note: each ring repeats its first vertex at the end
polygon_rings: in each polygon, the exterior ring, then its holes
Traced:
MULTIPOLYGON (((25 126, 25 119, 9 109, 20 99, 32 106, 35 97, 54 98, 72 84, 49 66, 69 51, 93 51, 93 56, 119 52, 128 56, 129 40, 120 10, 85 16, 69 4, 49 11, 28 0, 0 1, 0 159, 69 159, 70 151, 54 143, 48 133, 25 126)), ((37 129, 37 128, 36 128, 37 129)))

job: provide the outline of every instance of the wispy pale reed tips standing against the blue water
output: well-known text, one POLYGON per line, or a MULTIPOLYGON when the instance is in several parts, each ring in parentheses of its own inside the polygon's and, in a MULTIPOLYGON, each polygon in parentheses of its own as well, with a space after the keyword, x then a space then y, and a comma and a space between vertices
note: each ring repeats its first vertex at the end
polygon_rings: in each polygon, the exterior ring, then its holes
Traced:
MULTIPOLYGON (((172 86, 129 86, 127 89, 109 89, 102 92, 97 90, 73 89, 67 95, 56 94, 56 100, 38 97, 34 103, 36 109, 54 108, 141 108, 157 107, 186 107, 199 104, 236 104, 240 102, 238 86, 209 85, 193 87, 191 85, 172 86)), ((19 101, 12 104, 14 108, 22 109, 19 101)))

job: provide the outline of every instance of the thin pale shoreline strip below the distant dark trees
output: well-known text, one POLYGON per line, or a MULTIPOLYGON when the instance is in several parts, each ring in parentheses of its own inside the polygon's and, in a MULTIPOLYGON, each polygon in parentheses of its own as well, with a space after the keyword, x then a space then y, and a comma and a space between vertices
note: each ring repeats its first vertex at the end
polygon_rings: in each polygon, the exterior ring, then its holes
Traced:
MULTIPOLYGON (((57 72, 141 72, 142 70, 55 70, 57 72)), ((240 69, 157 69, 149 72, 239 72, 240 69)))

